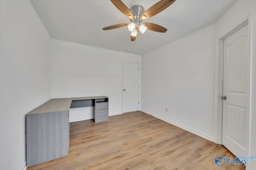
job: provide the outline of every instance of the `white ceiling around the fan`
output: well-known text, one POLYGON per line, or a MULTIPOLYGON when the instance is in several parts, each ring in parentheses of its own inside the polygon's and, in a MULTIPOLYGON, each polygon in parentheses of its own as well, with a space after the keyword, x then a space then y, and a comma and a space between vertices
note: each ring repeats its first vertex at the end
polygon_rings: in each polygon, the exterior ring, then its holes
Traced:
MULTIPOLYGON (((198 29, 215 23, 236 0, 176 0, 161 13, 145 20, 166 27, 166 33, 147 30, 130 41, 127 27, 103 27, 130 22, 110 0, 30 0, 53 39, 143 55, 198 29)), ((145 10, 158 0, 123 0, 128 8, 145 10)))

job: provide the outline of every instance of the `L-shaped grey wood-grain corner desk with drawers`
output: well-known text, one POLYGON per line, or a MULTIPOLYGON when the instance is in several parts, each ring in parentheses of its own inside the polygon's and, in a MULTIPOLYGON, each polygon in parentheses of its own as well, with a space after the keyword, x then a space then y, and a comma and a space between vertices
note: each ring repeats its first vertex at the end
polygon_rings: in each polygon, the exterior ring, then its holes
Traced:
POLYGON ((94 106, 94 122, 108 120, 108 97, 51 99, 26 114, 27 167, 68 155, 69 109, 94 106))

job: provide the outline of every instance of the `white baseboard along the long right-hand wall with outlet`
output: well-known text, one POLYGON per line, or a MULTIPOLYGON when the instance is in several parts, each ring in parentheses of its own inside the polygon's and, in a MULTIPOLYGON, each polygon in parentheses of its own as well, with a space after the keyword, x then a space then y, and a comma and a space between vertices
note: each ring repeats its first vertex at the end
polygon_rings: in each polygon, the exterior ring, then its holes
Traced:
POLYGON ((143 110, 143 109, 141 109, 141 111, 143 111, 143 112, 145 112, 145 113, 147 113, 147 114, 149 114, 149 115, 152 115, 152 116, 154 116, 154 117, 156 117, 156 118, 158 118, 158 119, 161 119, 161 120, 163 120, 163 121, 166 121, 166 122, 168 122, 168 123, 170 123, 170 124, 172 124, 172 125, 178 126, 178 127, 182 128, 182 129, 184 129, 184 130, 186 130, 186 131, 189 131, 189 132, 191 132, 191 133, 194 133, 194 134, 196 134, 196 135, 198 135, 198 136, 200 136, 200 137, 203 137, 203 138, 205 138, 205 139, 207 139, 207 140, 213 142, 213 137, 210 136, 210 135, 207 135, 206 133, 203 133, 203 132, 200 132, 200 131, 198 131, 198 130, 196 130, 196 129, 193 129, 193 128, 191 128, 191 127, 182 125, 182 124, 180 124, 180 123, 178 123, 178 122, 176 122, 176 121, 170 121, 170 120, 164 119, 163 117, 160 117, 160 116, 158 116, 158 115, 154 115, 153 113, 150 113, 149 111, 146 111, 146 110, 143 110))

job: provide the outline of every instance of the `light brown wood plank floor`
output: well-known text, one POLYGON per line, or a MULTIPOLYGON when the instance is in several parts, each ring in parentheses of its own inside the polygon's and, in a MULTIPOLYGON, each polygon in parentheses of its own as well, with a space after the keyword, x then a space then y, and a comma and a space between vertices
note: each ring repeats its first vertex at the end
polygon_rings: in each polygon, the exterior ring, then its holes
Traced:
POLYGON ((225 147, 141 111, 71 124, 68 156, 27 170, 244 170, 218 167, 217 155, 235 157, 225 147))

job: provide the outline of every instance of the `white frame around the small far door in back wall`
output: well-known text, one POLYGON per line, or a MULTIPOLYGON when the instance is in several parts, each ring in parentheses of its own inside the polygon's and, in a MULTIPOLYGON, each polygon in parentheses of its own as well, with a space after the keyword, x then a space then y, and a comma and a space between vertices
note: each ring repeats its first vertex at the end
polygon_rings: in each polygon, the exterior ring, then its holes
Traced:
POLYGON ((122 89, 121 89, 121 96, 122 96, 122 114, 124 113, 124 93, 123 93, 123 89, 124 89, 124 63, 131 63, 131 64, 138 64, 139 65, 139 92, 138 92, 138 97, 139 97, 139 108, 138 110, 141 109, 141 64, 140 63, 136 63, 136 62, 128 62, 128 61, 122 61, 122 89))

